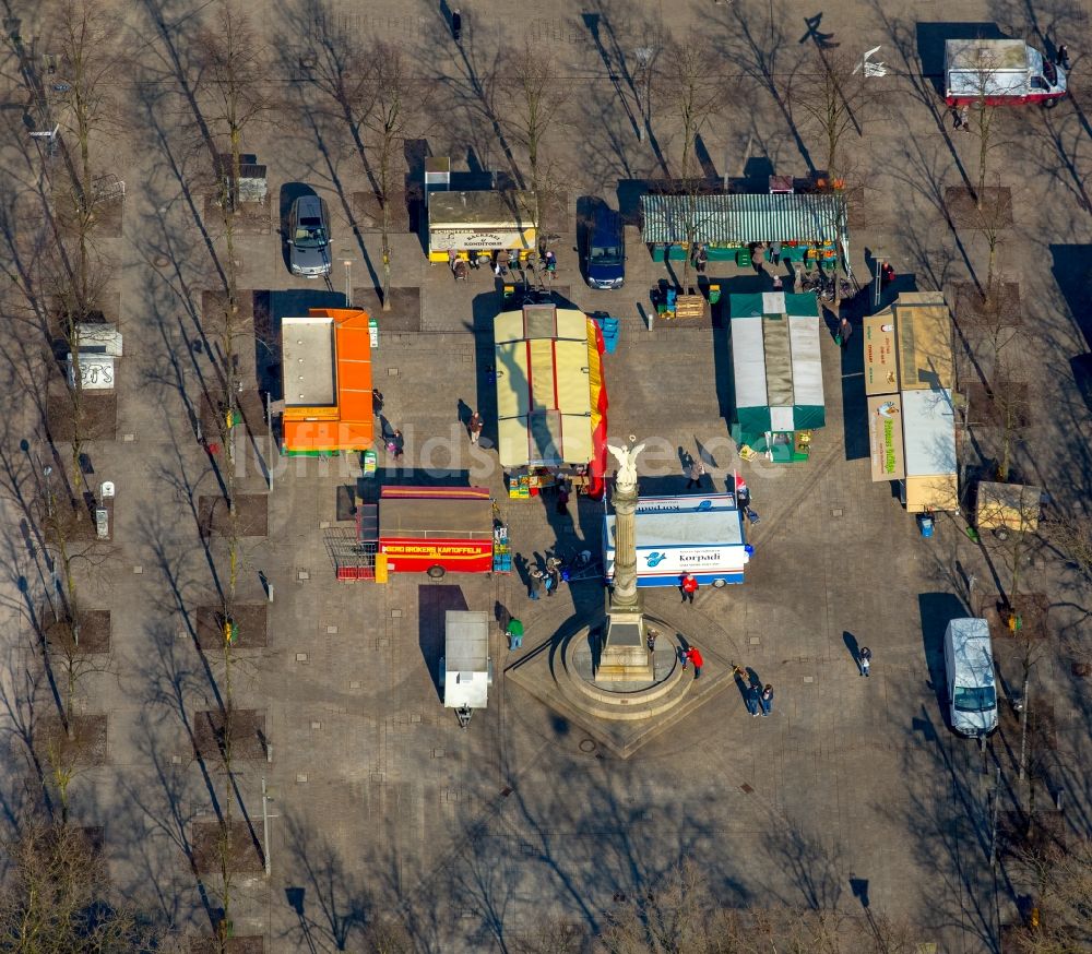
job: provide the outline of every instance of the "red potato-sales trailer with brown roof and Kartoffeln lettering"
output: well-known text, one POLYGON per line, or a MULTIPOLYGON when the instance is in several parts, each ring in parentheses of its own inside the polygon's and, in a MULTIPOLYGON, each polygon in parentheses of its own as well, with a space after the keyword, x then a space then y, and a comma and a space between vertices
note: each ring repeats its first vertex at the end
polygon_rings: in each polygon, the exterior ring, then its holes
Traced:
POLYGON ((376 580, 392 573, 491 573, 506 569, 508 529, 484 487, 384 487, 376 580), (496 560, 495 560, 495 550, 496 560), (499 561, 499 564, 498 562, 499 561))

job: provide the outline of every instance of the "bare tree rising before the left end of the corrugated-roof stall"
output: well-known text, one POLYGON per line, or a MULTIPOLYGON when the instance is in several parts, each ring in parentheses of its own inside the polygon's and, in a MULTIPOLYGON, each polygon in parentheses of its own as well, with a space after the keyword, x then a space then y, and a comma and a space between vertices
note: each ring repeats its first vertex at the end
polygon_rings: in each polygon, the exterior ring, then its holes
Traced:
POLYGON ((686 198, 682 228, 687 257, 682 265, 682 287, 690 284, 690 264, 699 239, 699 202, 705 184, 698 158, 698 138, 720 112, 724 85, 717 75, 716 59, 708 40, 692 34, 685 41, 672 39, 660 59, 655 81, 657 98, 679 130, 677 164, 680 191, 686 198))

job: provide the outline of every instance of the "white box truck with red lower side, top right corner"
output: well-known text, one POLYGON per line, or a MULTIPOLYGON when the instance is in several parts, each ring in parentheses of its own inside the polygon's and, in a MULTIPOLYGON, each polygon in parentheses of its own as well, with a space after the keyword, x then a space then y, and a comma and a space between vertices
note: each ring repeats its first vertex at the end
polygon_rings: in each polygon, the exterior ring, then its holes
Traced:
POLYGON ((1022 39, 947 40, 945 80, 949 106, 1054 106, 1066 95, 1066 71, 1022 39))

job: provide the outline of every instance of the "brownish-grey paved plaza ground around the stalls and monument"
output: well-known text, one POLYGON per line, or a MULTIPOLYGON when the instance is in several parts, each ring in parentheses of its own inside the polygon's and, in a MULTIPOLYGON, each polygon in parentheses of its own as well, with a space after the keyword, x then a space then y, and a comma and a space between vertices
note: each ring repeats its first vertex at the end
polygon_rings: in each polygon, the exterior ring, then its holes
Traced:
MULTIPOLYGON (((258 295, 301 293, 300 302, 302 293, 348 286, 361 305, 373 299, 381 272, 379 231, 353 222, 353 196, 369 188, 367 175, 329 103, 293 68, 299 52, 329 36, 404 45, 417 71, 437 76, 437 95, 450 98, 450 108, 436 109, 420 131, 428 152, 451 156, 459 170, 507 171, 470 91, 501 48, 527 40, 550 49, 569 94, 566 124, 548 148, 567 186, 566 215, 554 224, 556 285, 585 311, 620 321, 617 350, 604 357, 612 439, 636 434, 649 443, 639 465, 643 492, 681 492, 680 452, 701 453, 707 488, 732 489, 732 474, 740 470, 760 515, 749 528, 755 553, 743 585, 703 587, 692 607, 680 605, 675 589, 645 591, 646 607, 685 625, 715 658, 772 683, 773 713, 751 718, 728 688, 631 758, 613 756, 506 677, 555 633, 600 611, 602 586, 581 581, 532 601, 519 574, 340 583, 329 541, 352 526, 339 518, 345 514, 337 494, 358 484, 358 462, 280 458, 256 420, 236 429, 237 486, 262 497, 268 534, 245 540, 239 598, 266 611, 266 640, 237 651, 234 692, 264 729, 261 751, 241 759, 235 775, 237 803, 258 844, 265 838, 263 785, 272 796, 270 873, 259 864, 237 879, 235 933, 263 938, 269 952, 365 951, 373 923, 399 921, 420 951, 511 951, 543 915, 602 929, 621 898, 641 896, 689 859, 726 906, 838 907, 852 917, 867 907, 913 925, 914 939, 937 951, 997 952, 1002 925, 1020 917, 1020 892, 989 864, 996 768, 1007 779, 1000 797, 1009 798, 1012 737, 980 751, 948 730, 940 640, 948 619, 971 615, 969 607, 976 612, 1004 585, 990 567, 1001 577, 1005 571, 968 539, 961 518, 940 515, 935 536, 923 538, 890 486, 871 481, 859 323, 843 351, 826 317, 827 427, 817 432, 811 458, 743 463, 726 422, 726 307, 696 326, 650 326, 650 289, 668 272, 641 245, 633 217, 622 289, 586 288, 573 250, 582 196, 617 207, 632 203, 641 181, 663 175, 621 106, 628 94, 610 50, 640 46, 657 27, 680 37, 696 28, 708 34, 723 57, 728 100, 702 131, 715 175, 748 175, 748 164, 761 160, 803 176, 802 148, 810 142, 816 155, 821 151, 787 121, 786 104, 767 83, 790 69, 802 37, 811 41, 804 14, 819 11, 780 0, 586 5, 560 2, 524 15, 497 0, 468 0, 461 51, 448 38, 442 4, 252 5, 257 41, 283 62, 270 67, 274 108, 269 121, 248 129, 246 151, 268 166, 274 217, 293 183, 309 183, 327 199, 335 263, 329 283, 290 276, 274 222, 237 240, 240 283, 258 295), (344 261, 352 262, 348 273, 344 261), (466 729, 443 708, 436 682, 443 612, 459 608, 498 620, 489 706, 466 729), (520 651, 507 648, 499 621, 506 613, 525 623, 520 651), (868 679, 854 663, 860 645, 874 653, 868 679)), ((889 67, 876 81, 882 109, 859 138, 852 134, 866 188, 850 235, 863 282, 876 250, 895 265, 900 277, 886 300, 900 288, 942 289, 951 300, 953 283, 981 278, 988 254, 981 232, 946 212, 945 187, 973 178, 977 159, 971 138, 952 132, 919 75, 923 32, 910 17, 994 23, 1041 48, 1044 40, 1068 41, 1077 53, 1092 40, 1088 13, 1063 7, 1034 20, 1016 3, 953 8, 925 0, 893 9, 844 0, 822 10, 828 41, 862 52, 881 45, 878 59, 889 67)), ((197 163, 193 118, 170 92, 164 39, 177 43, 185 60, 203 10, 151 0, 127 7, 139 67, 114 88, 132 118, 114 139, 96 142, 100 162, 126 182, 120 235, 99 239, 115 265, 104 311, 120 322, 124 357, 117 439, 86 449, 93 486, 117 485, 109 559, 88 571, 83 597, 111 611, 111 646, 108 663, 81 683, 78 706, 107 716, 108 758, 71 786, 72 818, 105 830, 117 890, 178 938, 212 930, 215 889, 194 873, 191 859, 194 832, 216 819, 225 789, 216 766, 194 756, 193 742, 197 714, 219 704, 223 675, 218 654, 201 651, 195 633, 199 609, 216 605, 215 580, 225 572, 222 541, 213 536, 205 546, 199 516, 201 498, 219 492, 216 468, 226 456, 224 449, 206 453, 195 424, 212 367, 209 345, 201 344, 202 296, 218 287, 212 253, 224 254, 224 243, 202 188, 188 178, 197 163), (157 17, 169 28, 157 27, 157 17)), ((49 35, 45 13, 20 15, 24 38, 49 35)), ((8 98, 22 102, 14 61, 3 76, 8 98)), ((1079 70, 1072 82, 1072 96, 1055 110, 999 115, 993 160, 1012 193, 998 267, 1020 285, 1020 377, 1034 420, 1016 448, 1016 469, 1068 509, 1083 505, 1092 486, 1089 407, 1070 365, 1090 350, 1092 97, 1079 70)), ((5 199, 31 210, 44 159, 23 135, 19 111, 4 115, 19 143, 4 148, 5 199)), ((666 119, 663 130, 669 151, 677 131, 666 119)), ((14 231, 34 228, 37 220, 14 231)), ((425 468, 453 472, 489 488, 518 553, 534 561, 556 547, 597 552, 601 501, 581 497, 561 517, 542 500, 507 497, 488 419, 490 327, 502 306, 494 276, 483 270, 453 282, 446 266, 428 264, 420 239, 405 227, 393 236, 391 258, 393 286, 416 294, 419 310, 375 312, 375 383, 385 417, 406 438, 400 461, 379 450, 377 479, 397 484, 425 468), (461 402, 486 413, 484 449, 470 446, 461 402)), ((749 291, 757 281, 715 262, 709 278, 726 294, 749 291)), ((854 321, 870 310, 869 295, 847 306, 854 321)), ((270 361, 261 347, 248 336, 241 365, 248 392, 258 390, 259 370, 270 361)), ((10 365, 9 392, 26 394, 17 361, 10 365)), ((33 779, 24 777, 25 746, 12 727, 32 701, 50 701, 45 683, 26 676, 40 671, 33 608, 48 588, 40 551, 27 548, 20 527, 27 488, 40 485, 40 461, 50 453, 32 402, 14 407, 3 445, 12 567, 3 684, 12 758, 0 782, 15 816, 40 799, 40 787, 35 796, 33 779), (26 437, 29 448, 20 450, 26 437)), ((984 456, 992 453, 987 448, 984 456)), ((59 452, 61 467, 66 454, 59 452)), ((1089 697, 1072 664, 1088 652, 1081 640, 1089 592, 1048 546, 1036 542, 1024 560, 1022 585, 1052 605, 1032 689, 1055 728, 1042 756, 1041 798, 1046 804, 1064 789, 1064 827, 1071 838, 1087 838, 1089 697)), ((1002 645, 998 656, 1011 688, 1016 651, 1002 645)))

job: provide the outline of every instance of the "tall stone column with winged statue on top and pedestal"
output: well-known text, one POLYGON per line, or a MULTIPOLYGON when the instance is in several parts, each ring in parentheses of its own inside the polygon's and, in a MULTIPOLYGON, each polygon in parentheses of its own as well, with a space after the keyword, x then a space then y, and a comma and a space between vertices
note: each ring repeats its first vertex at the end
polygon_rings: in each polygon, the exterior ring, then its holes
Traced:
POLYGON ((615 510, 615 569, 607 628, 595 670, 597 682, 651 682, 652 655, 645 645, 644 613, 637 592, 637 456, 644 444, 607 450, 618 462, 610 502, 615 510))

